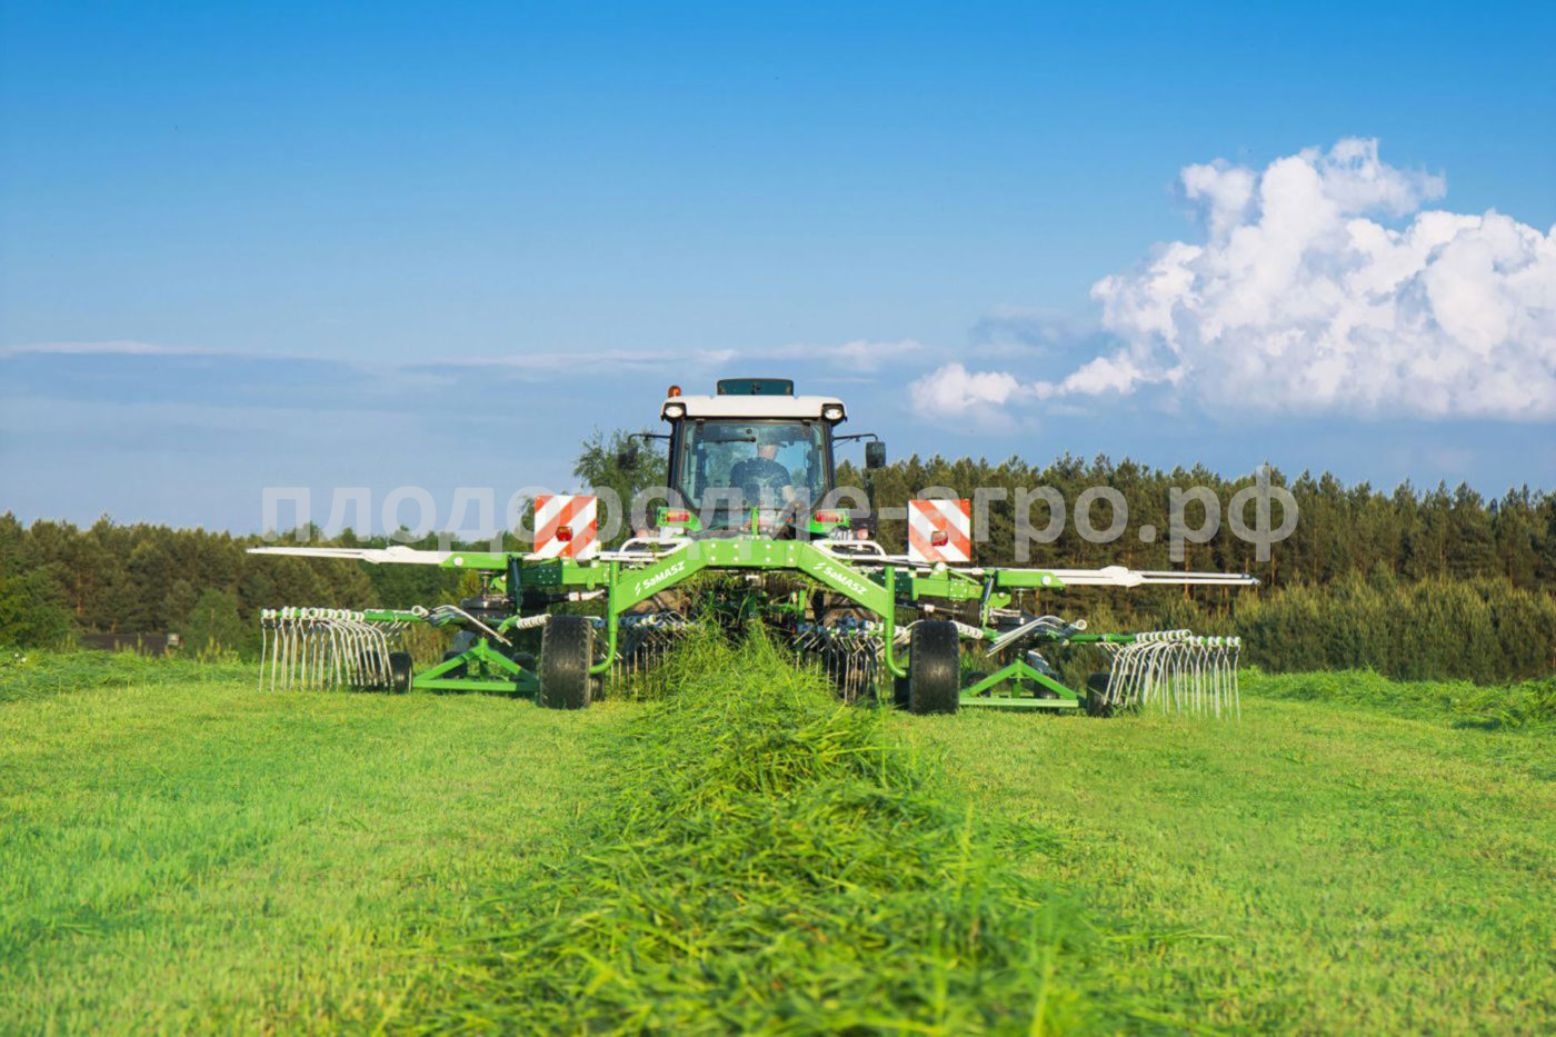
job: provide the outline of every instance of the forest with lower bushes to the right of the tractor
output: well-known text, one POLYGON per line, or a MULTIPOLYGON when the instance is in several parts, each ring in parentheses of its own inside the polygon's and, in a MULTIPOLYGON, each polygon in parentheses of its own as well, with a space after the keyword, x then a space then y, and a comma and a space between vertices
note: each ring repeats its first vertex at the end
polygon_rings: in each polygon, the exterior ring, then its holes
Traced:
MULTIPOLYGON (((1556 671, 1556 495, 1528 486, 1488 500, 1464 484, 1421 490, 1405 483, 1385 492, 1366 483, 1346 486, 1327 472, 1290 478, 1273 470, 1270 483, 1291 494, 1298 522, 1270 545, 1267 561, 1256 542, 1232 536, 1223 522, 1218 536, 1184 545, 1183 561, 1173 562, 1164 536, 1150 543, 1139 537, 1144 525, 1169 529, 1172 490, 1203 486, 1225 515, 1234 495, 1254 486, 1253 475, 1067 455, 1043 467, 1021 458, 991 464, 940 456, 913 456, 868 473, 839 467, 840 484, 868 484, 878 504, 907 500, 926 486, 963 497, 977 487, 1007 490, 1007 500, 990 503, 987 537, 974 547, 974 562, 983 565, 1127 565, 1260 579, 1256 589, 1075 589, 1033 593, 1022 603, 1085 617, 1094 631, 1190 627, 1239 635, 1243 659, 1268 670, 1374 668, 1407 679, 1481 682, 1556 671), (1088 487, 1113 487, 1127 501, 1128 528, 1111 543, 1095 543, 1071 520, 1052 542, 1029 542, 1021 561, 1016 490, 1039 486, 1052 486, 1071 508, 1088 487)), ((1095 511, 1094 526, 1106 526, 1108 506, 1095 511)), ((1249 506, 1249 523, 1253 512, 1249 506)), ((1027 522, 1044 526, 1044 506, 1027 522)), ((906 522, 882 522, 887 550, 904 550, 906 537, 906 522)))

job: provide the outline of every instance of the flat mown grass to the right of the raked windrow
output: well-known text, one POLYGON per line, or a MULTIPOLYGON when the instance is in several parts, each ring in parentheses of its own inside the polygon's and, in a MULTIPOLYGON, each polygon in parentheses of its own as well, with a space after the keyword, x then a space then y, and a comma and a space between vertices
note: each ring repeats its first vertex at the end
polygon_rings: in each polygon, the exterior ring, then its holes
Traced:
MULTIPOLYGON (((1257 690, 1257 682, 1254 684, 1257 690)), ((1237 724, 997 713, 893 719, 983 810, 1063 836, 1032 861, 1184 939, 1134 972, 1197 1021, 1548 1032, 1550 736, 1249 696, 1237 724)))

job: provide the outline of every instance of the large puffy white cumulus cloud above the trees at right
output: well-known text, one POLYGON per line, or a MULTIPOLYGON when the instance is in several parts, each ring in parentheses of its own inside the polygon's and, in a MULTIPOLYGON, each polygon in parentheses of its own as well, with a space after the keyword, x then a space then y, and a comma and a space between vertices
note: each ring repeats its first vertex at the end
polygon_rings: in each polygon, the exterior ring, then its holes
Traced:
POLYGON ((1556 227, 1422 209, 1442 178, 1385 163, 1376 140, 1190 165, 1181 188, 1204 243, 1099 280, 1116 344, 1057 381, 1004 375, 1007 400, 1161 385, 1218 408, 1556 419, 1556 227))

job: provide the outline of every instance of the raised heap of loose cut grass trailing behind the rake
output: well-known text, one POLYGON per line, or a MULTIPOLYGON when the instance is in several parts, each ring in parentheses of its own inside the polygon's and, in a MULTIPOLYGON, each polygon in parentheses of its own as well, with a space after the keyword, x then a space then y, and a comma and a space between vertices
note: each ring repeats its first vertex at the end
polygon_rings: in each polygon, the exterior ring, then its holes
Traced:
MULTIPOLYGON (((1150 1026, 1113 937, 940 777, 759 635, 692 640, 604 735, 576 853, 484 906, 415 1029, 1046 1032, 1150 1026)), ((934 722, 934 721, 929 721, 934 722)))

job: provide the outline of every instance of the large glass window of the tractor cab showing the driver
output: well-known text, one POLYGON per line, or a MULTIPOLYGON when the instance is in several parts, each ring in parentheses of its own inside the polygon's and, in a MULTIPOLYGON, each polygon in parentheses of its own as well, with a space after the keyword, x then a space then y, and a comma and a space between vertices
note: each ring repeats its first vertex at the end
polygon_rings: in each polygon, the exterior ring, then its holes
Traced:
POLYGON ((691 508, 784 508, 826 492, 826 428, 804 420, 688 420, 677 486, 691 508))

